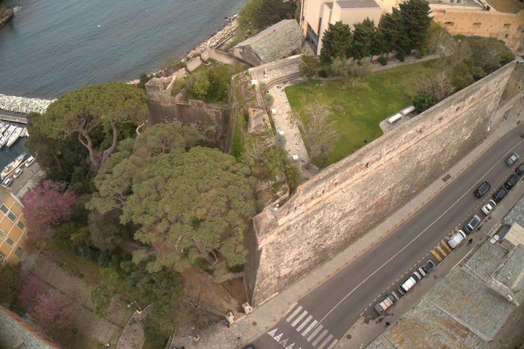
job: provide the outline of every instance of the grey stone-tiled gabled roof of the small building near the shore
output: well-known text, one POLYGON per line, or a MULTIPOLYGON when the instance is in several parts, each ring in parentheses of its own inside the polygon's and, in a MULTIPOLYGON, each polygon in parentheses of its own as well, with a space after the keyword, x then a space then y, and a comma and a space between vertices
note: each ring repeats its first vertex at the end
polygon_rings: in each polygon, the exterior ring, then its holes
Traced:
POLYGON ((263 63, 269 63, 291 53, 301 44, 302 32, 297 21, 284 19, 235 47, 250 46, 263 63))

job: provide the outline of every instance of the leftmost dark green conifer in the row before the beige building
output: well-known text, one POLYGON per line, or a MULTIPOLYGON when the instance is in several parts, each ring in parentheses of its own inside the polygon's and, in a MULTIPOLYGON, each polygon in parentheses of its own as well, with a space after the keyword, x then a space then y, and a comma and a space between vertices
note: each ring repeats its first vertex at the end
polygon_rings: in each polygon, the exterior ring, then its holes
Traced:
POLYGON ((347 24, 338 21, 330 24, 322 38, 320 61, 329 64, 335 57, 348 58, 351 51, 351 29, 347 24))

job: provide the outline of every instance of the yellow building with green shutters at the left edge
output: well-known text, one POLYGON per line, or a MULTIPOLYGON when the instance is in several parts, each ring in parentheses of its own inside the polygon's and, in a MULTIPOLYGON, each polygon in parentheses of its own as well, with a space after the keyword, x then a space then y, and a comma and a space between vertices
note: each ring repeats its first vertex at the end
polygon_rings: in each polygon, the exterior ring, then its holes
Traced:
POLYGON ((11 191, 0 186, 0 263, 20 261, 28 235, 23 205, 11 191))

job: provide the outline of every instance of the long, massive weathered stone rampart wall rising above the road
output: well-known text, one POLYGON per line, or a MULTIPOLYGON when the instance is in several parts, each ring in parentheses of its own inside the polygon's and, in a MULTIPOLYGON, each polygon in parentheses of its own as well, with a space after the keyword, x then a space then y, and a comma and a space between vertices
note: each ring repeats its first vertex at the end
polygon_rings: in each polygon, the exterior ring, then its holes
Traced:
MULTIPOLYGON (((443 175, 500 125, 509 63, 299 186, 254 218, 245 268, 253 305, 346 249, 443 175)), ((370 106, 371 107, 371 106, 370 106)))

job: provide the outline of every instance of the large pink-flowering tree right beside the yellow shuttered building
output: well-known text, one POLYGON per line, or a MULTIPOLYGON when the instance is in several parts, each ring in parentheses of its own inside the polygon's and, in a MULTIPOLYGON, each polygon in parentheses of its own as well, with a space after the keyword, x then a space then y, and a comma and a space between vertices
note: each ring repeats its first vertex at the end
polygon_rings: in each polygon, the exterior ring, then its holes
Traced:
POLYGON ((24 197, 24 216, 33 240, 45 241, 52 228, 68 220, 78 196, 66 192, 67 183, 45 181, 29 190, 24 197))

